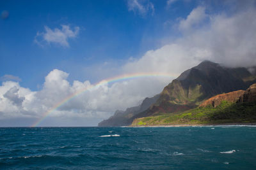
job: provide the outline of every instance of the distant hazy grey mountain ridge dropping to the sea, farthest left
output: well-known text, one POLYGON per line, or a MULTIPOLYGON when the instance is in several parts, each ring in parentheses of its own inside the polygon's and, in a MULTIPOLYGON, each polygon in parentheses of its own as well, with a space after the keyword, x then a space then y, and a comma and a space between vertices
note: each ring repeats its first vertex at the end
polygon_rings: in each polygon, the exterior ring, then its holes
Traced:
POLYGON ((113 127, 113 126, 125 126, 131 125, 133 121, 133 117, 138 113, 141 113, 147 110, 152 104, 156 103, 159 95, 154 97, 145 98, 140 106, 135 106, 131 108, 127 108, 125 111, 116 110, 115 114, 108 118, 107 120, 103 120, 98 124, 99 127, 113 127))

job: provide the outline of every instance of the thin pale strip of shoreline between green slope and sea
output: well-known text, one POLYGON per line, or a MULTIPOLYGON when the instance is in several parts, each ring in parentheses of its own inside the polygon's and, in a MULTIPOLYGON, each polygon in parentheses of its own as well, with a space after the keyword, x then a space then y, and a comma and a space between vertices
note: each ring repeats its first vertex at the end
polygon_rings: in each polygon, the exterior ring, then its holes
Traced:
POLYGON ((256 123, 230 123, 230 124, 173 124, 173 125, 129 125, 125 127, 204 127, 204 126, 256 126, 256 123))

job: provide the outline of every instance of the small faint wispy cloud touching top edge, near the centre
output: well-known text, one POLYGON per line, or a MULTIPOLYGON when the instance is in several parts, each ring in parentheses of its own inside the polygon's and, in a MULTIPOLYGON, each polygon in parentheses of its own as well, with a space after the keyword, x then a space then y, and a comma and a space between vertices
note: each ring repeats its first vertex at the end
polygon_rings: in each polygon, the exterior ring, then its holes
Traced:
POLYGON ((154 4, 150 1, 128 0, 127 6, 129 11, 133 11, 134 13, 138 12, 141 16, 147 15, 148 12, 154 15, 155 12, 154 4))

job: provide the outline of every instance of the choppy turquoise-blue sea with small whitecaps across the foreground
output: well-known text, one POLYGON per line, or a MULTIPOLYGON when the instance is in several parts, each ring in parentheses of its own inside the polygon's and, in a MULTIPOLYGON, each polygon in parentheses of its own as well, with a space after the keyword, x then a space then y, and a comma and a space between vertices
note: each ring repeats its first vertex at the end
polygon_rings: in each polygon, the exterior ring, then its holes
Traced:
POLYGON ((256 169, 256 127, 6 127, 0 169, 256 169))

